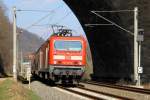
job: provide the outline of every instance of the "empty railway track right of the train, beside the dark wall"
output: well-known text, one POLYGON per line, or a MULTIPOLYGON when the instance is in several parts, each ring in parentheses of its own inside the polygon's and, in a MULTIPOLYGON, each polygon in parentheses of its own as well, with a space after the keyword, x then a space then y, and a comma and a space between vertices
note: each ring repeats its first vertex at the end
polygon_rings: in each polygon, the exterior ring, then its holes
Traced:
POLYGON ((122 85, 112 85, 112 84, 108 84, 108 83, 93 82, 93 81, 86 81, 86 82, 83 82, 83 83, 96 85, 96 86, 109 87, 109 88, 114 88, 114 89, 120 89, 120 90, 126 90, 126 91, 136 92, 136 93, 140 93, 140 94, 150 95, 150 90, 149 89, 143 89, 143 88, 137 88, 137 87, 129 87, 129 86, 122 86, 122 85))

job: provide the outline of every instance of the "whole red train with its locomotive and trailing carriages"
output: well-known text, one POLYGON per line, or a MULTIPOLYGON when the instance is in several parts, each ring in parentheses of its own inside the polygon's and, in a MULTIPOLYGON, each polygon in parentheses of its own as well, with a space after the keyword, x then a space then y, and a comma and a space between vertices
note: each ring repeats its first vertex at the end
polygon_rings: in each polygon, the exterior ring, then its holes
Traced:
POLYGON ((32 74, 55 83, 79 83, 85 73, 86 40, 69 30, 51 35, 35 53, 32 74))

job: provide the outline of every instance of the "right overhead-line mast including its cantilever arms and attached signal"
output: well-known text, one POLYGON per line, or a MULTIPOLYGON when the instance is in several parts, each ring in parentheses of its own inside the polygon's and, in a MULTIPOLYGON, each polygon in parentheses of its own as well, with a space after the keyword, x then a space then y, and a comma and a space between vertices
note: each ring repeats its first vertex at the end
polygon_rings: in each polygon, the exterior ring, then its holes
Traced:
MULTIPOLYGON (((105 21, 109 22, 110 24, 105 25, 114 25, 131 35, 134 35, 134 82, 136 85, 140 86, 140 74, 143 73, 143 67, 141 67, 141 42, 144 40, 143 32, 144 30, 140 30, 142 33, 139 35, 138 29, 138 7, 135 7, 134 10, 112 10, 112 11, 91 11, 93 14, 97 15, 98 17, 104 19, 105 21), (120 25, 116 24, 115 22, 103 17, 102 15, 98 14, 99 12, 111 12, 111 13, 119 13, 119 12, 134 12, 134 33, 130 32, 129 30, 121 27, 120 25)), ((86 24, 86 26, 90 25, 102 25, 102 24, 86 24)))

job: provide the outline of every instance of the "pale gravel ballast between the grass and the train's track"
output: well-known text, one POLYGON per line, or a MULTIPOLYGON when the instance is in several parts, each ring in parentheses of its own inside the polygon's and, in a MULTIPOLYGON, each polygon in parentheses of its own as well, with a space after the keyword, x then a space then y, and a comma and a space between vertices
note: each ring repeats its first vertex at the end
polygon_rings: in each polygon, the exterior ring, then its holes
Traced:
MULTIPOLYGON (((28 87, 28 85, 26 85, 28 87)), ((68 91, 43 84, 39 81, 31 83, 31 89, 41 97, 42 100, 89 100, 88 98, 70 93, 68 91)))

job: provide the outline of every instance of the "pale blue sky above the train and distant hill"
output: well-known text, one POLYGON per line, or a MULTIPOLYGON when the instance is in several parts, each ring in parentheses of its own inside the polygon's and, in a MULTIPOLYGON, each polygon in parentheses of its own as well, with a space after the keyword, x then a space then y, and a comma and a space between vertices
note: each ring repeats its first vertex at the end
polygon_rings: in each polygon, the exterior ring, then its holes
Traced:
POLYGON ((41 38, 46 39, 50 36, 51 24, 72 29, 75 35, 85 34, 76 16, 62 0, 3 0, 3 3, 7 8, 6 15, 11 22, 14 6, 17 10, 46 10, 45 12, 17 11, 17 26, 41 38), (41 18, 44 19, 39 21, 41 18), (33 25, 34 23, 36 24, 33 25))

